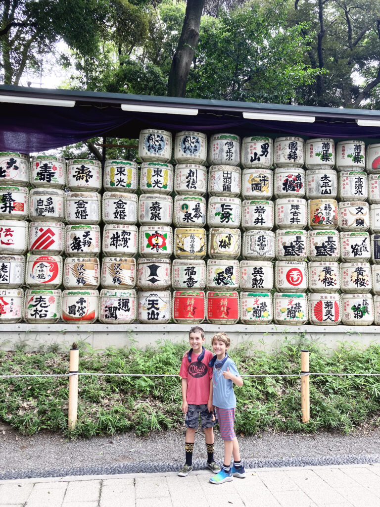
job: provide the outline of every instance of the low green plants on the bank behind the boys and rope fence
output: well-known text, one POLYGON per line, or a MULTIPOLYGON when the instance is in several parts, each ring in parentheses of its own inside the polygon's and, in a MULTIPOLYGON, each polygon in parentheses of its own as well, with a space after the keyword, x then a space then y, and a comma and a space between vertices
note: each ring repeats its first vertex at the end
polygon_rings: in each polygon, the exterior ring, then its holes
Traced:
MULTIPOLYGON (((279 351, 262 352, 245 345, 231 351, 241 374, 298 374, 305 342, 289 343, 279 351)), ((178 374, 186 344, 158 342, 146 350, 108 348, 80 351, 80 372, 178 374)), ((380 373, 380 345, 366 349, 342 343, 331 351, 309 344, 310 371, 318 373, 380 373)), ((68 373, 68 352, 0 351, 0 374, 68 373)), ((246 435, 273 429, 285 432, 336 429, 378 424, 380 377, 312 376, 311 420, 301 423, 300 378, 249 378, 235 387, 236 430, 246 435)), ((2 379, 0 420, 22 433, 41 429, 68 435, 68 378, 2 379)), ((73 437, 133 431, 178 429, 181 383, 174 377, 79 377, 78 423, 73 437)))

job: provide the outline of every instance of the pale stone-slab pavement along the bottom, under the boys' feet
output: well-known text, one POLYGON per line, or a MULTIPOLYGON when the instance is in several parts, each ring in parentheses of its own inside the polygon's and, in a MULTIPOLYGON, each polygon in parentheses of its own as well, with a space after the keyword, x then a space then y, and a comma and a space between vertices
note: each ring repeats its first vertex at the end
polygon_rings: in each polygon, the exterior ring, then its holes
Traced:
POLYGON ((380 464, 0 481, 0 507, 380 507, 380 464))

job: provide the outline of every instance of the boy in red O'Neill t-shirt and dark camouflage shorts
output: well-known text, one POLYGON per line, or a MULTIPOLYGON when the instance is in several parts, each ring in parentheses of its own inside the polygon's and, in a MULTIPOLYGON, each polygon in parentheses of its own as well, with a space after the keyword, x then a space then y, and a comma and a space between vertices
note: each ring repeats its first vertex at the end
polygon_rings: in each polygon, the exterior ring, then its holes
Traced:
POLYGON ((206 437, 207 467, 214 473, 220 472, 220 466, 214 461, 214 430, 216 423, 212 407, 212 368, 208 366, 212 353, 203 346, 205 333, 195 326, 189 331, 188 341, 192 347, 182 358, 182 412, 186 414, 185 455, 186 462, 179 470, 180 477, 187 476, 193 470, 193 448, 195 431, 199 416, 206 437))

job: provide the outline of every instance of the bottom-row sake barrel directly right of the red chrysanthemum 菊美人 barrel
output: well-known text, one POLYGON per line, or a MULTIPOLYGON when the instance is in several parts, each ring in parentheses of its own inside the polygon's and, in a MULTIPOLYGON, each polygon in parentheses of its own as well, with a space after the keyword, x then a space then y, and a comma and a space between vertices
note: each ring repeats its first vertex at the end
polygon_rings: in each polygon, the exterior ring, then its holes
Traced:
POLYGON ((371 325, 374 319, 373 300, 370 294, 342 294, 344 325, 371 325))

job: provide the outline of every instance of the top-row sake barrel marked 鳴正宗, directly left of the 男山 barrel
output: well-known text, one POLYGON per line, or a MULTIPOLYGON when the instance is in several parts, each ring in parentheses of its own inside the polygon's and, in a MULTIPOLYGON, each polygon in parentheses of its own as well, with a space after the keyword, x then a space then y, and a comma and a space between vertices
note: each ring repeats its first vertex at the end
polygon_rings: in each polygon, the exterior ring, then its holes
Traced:
POLYGON ((235 134, 212 134, 208 145, 208 163, 240 165, 240 137, 235 134))

